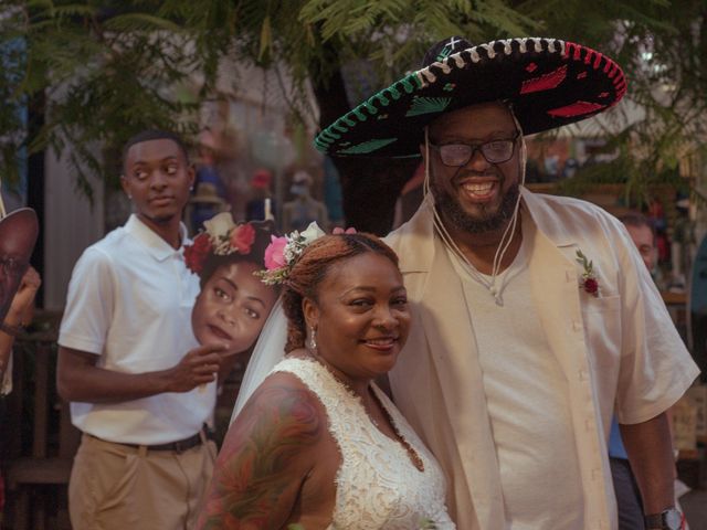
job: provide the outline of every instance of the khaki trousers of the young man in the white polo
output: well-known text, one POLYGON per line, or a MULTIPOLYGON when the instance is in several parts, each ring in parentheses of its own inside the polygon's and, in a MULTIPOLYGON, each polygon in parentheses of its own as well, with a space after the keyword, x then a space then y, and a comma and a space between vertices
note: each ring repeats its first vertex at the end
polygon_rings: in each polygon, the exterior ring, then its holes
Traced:
POLYGON ((213 442, 183 453, 83 435, 68 483, 74 530, 191 530, 211 481, 213 442))

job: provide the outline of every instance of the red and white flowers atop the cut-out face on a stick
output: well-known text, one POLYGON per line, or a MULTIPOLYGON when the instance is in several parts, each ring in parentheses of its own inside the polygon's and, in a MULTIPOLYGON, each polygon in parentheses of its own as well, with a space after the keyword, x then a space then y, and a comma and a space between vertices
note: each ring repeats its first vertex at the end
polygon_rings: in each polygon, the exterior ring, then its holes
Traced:
POLYGON ((203 223, 191 245, 184 246, 187 267, 199 274, 210 254, 228 256, 231 254, 247 255, 255 241, 255 229, 251 224, 235 224, 229 212, 222 212, 203 223))

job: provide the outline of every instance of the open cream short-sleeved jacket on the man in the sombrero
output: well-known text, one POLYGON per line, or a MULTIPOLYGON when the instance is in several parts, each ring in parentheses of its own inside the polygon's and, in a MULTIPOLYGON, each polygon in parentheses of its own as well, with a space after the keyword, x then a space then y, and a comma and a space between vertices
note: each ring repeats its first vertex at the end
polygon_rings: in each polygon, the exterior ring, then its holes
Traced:
MULTIPOLYGON (((584 201, 525 189, 521 214, 538 227, 529 263, 532 292, 569 381, 585 528, 614 529, 606 456, 614 403, 621 423, 647 421, 679 399, 698 369, 619 221, 584 201), (597 298, 579 288, 577 250, 594 263, 597 298)), ((433 234, 430 203, 387 242, 400 256, 413 311, 410 338, 390 378, 395 403, 445 470, 458 528, 505 528, 473 317, 433 234)))

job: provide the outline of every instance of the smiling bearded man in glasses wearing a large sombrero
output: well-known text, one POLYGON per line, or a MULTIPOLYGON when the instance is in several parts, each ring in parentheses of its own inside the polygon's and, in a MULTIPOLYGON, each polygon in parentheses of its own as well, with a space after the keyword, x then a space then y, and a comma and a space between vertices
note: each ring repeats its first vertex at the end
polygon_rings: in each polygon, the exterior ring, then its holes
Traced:
POLYGON ((664 411, 698 370, 621 224, 523 186, 524 135, 625 89, 579 44, 452 38, 316 139, 331 156, 423 157, 431 193, 388 237, 414 315, 391 386, 458 528, 615 529, 614 411, 646 527, 680 528, 664 411))

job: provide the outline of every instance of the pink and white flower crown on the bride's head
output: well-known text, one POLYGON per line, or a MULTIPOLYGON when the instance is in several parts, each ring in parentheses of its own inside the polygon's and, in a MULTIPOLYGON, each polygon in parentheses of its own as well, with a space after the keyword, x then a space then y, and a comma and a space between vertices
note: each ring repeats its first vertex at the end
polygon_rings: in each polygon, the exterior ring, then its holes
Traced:
MULTIPOLYGON (((355 234, 356 229, 334 229, 333 234, 355 234)), ((265 271, 255 274, 261 277, 264 284, 276 285, 287 279, 292 268, 302 256, 307 246, 326 235, 324 230, 315 222, 309 223, 307 230, 288 235, 275 237, 271 235, 271 243, 265 248, 265 271)))

